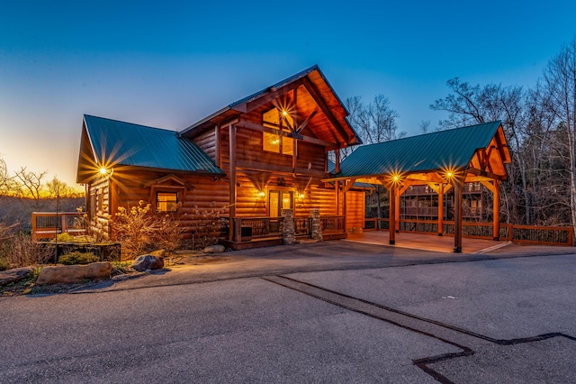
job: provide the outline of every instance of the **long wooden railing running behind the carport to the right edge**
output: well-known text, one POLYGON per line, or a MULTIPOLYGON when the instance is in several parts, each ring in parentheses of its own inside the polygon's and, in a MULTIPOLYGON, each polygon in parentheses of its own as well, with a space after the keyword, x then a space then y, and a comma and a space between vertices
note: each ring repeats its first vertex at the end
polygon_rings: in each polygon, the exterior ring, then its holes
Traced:
MULTIPOLYGON (((388 219, 366 218, 365 231, 387 231, 388 219)), ((401 220, 401 232, 437 233, 437 221, 433 220, 401 220)), ((444 234, 454 236, 455 223, 444 223, 444 234)), ((478 239, 492 239, 491 223, 463 223, 464 237, 478 239)), ((573 245, 571 226, 536 226, 500 224, 500 240, 510 242, 523 242, 530 244, 573 245)))

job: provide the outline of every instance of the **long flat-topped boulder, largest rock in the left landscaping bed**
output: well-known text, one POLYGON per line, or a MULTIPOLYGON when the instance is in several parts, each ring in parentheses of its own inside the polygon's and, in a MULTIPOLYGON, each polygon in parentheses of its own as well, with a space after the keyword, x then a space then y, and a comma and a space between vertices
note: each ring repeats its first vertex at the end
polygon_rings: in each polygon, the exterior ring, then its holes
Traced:
POLYGON ((36 284, 72 284, 85 280, 110 279, 112 263, 108 261, 93 262, 86 265, 57 265, 44 267, 36 284))

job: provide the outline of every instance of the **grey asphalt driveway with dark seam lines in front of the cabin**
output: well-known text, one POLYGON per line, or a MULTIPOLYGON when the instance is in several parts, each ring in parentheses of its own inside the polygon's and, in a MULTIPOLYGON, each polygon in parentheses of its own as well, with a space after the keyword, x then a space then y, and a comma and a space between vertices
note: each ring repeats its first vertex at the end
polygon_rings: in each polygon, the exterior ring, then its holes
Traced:
POLYGON ((336 241, 170 268, 0 299, 0 381, 576 381, 574 249, 336 241))

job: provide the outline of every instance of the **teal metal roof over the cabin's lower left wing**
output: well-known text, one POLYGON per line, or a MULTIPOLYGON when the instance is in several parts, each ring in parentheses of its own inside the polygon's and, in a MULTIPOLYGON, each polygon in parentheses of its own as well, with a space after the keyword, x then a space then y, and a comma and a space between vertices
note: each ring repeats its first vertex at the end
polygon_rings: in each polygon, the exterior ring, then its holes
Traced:
POLYGON ((198 145, 174 131, 87 114, 84 121, 99 164, 224 174, 198 145))

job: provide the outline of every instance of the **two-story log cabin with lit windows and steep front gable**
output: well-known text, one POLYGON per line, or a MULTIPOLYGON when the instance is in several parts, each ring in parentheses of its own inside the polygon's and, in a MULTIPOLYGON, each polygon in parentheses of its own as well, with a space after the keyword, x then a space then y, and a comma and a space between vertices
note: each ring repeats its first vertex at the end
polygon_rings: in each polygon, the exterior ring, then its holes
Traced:
POLYGON ((361 143, 347 115, 318 66, 178 133, 85 115, 77 182, 91 229, 110 238, 118 208, 144 201, 189 228, 197 209, 220 210, 233 248, 281 243, 286 208, 296 234, 309 235, 311 210, 320 210, 326 237, 345 237, 364 224, 365 192, 326 180, 330 152, 338 173, 339 149, 361 143))

